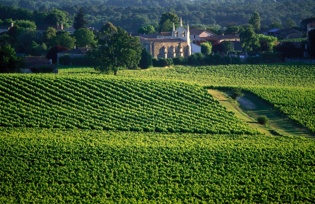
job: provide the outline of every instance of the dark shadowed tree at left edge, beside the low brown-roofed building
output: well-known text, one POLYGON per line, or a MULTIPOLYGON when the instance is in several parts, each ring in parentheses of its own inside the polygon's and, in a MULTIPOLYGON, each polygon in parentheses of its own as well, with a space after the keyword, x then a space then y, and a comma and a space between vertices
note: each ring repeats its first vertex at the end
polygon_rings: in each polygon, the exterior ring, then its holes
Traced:
POLYGON ((23 59, 15 54, 11 45, 0 46, 0 72, 15 72, 25 65, 23 59))

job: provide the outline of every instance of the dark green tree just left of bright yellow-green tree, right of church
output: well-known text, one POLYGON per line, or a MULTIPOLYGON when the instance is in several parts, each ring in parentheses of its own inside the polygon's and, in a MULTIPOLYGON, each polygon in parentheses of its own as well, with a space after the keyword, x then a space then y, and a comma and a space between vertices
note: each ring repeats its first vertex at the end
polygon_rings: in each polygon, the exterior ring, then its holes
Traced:
POLYGON ((259 48, 259 39, 255 35, 255 32, 251 28, 247 28, 245 31, 239 34, 239 38, 243 47, 243 50, 246 52, 255 51, 259 48))

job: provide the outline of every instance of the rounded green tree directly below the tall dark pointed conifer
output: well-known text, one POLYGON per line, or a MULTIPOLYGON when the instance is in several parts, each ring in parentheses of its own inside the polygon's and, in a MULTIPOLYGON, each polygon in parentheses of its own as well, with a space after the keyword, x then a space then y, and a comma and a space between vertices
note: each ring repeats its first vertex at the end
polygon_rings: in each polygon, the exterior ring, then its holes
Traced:
POLYGON ((76 45, 78 47, 94 47, 96 44, 95 35, 88 28, 79 28, 73 32, 73 37, 76 38, 76 45))

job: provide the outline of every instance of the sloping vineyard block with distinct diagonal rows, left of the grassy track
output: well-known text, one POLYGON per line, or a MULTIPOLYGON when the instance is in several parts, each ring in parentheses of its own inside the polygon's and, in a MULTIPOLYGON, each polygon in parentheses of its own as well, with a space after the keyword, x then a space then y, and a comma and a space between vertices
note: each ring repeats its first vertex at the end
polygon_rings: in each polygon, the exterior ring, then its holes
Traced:
POLYGON ((198 85, 103 76, 0 75, 0 126, 258 134, 198 85))

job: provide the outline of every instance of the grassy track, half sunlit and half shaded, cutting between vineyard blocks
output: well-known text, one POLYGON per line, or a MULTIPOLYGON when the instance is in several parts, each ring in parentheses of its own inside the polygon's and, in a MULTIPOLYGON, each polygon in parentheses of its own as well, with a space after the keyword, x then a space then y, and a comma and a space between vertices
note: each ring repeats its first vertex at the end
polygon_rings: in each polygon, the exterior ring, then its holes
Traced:
POLYGON ((217 100, 220 104, 225 106, 229 111, 233 111, 236 116, 241 118, 244 122, 248 123, 252 128, 257 128, 266 135, 272 135, 271 130, 276 130, 282 135, 287 136, 303 136, 308 138, 315 138, 313 134, 305 131, 302 128, 297 127, 295 124, 291 123, 288 119, 283 118, 279 113, 272 110, 272 106, 266 104, 261 99, 245 94, 243 97, 238 99, 238 104, 228 99, 224 93, 217 90, 208 90, 208 92, 217 100), (246 113, 245 113, 245 112, 246 113), (269 119, 267 127, 260 125, 257 121, 250 117, 258 117, 260 115, 266 115, 269 119))

